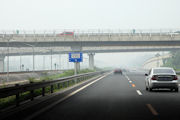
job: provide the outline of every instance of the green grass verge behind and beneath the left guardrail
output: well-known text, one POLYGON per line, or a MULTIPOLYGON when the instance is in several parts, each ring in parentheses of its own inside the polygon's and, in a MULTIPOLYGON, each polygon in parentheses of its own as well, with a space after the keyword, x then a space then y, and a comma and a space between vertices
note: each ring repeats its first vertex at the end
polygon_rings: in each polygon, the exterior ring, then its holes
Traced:
MULTIPOLYGON (((79 72, 79 74, 88 73, 88 72, 95 72, 95 70, 84 69, 84 70, 81 70, 79 72)), ((49 80, 54 80, 54 79, 67 77, 67 76, 72 76, 72 75, 74 75, 74 70, 68 70, 68 71, 65 71, 64 73, 61 73, 61 74, 41 77, 40 80, 36 80, 35 78, 29 78, 29 82, 33 83, 33 82, 49 81, 49 80)), ((77 79, 76 81, 80 82, 81 80, 77 79)), ((62 89, 67 88, 67 87, 70 87, 70 86, 72 86, 74 84, 75 84, 75 80, 72 80, 70 82, 59 83, 59 85, 55 84, 55 85, 53 85, 54 92, 62 90, 62 89)), ((45 94, 49 94, 50 90, 51 90, 50 86, 46 87, 45 88, 45 94)), ((40 89, 34 90, 33 96, 36 97, 36 96, 40 96, 41 94, 42 94, 42 89, 40 88, 40 89)), ((19 102, 28 100, 30 98, 31 98, 30 92, 21 93, 20 96, 19 96, 19 102)), ((16 104, 15 95, 9 96, 9 97, 6 97, 6 98, 0 98, 0 110, 2 110, 4 108, 7 108, 9 106, 15 105, 15 104, 16 104)))

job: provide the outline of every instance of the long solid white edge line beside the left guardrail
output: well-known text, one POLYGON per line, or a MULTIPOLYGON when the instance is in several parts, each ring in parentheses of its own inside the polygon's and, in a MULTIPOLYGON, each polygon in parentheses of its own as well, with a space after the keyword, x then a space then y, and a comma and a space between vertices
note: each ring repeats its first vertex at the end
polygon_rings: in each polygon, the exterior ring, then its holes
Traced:
POLYGON ((68 95, 65 96, 64 98, 62 98, 62 99, 60 99, 60 100, 58 100, 58 101, 52 103, 52 104, 49 105, 49 106, 46 106, 46 107, 44 107, 43 109, 37 111, 36 113, 34 113, 34 114, 28 116, 25 120, 31 120, 31 119, 33 119, 34 117, 40 115, 41 113, 47 111, 48 109, 54 107, 55 105, 59 104, 60 102, 62 102, 62 101, 64 101, 64 100, 66 100, 67 98, 73 96, 74 94, 76 94, 76 93, 78 93, 79 91, 83 90, 84 88, 90 86, 91 84, 93 84, 93 83, 95 83, 95 82, 97 82, 97 81, 103 79, 104 77, 108 76, 108 75, 111 74, 111 73, 112 73, 112 72, 110 72, 110 73, 108 73, 108 74, 105 74, 104 76, 102 76, 102 77, 100 77, 100 78, 98 78, 98 79, 96 79, 96 80, 94 80, 94 81, 88 83, 87 85, 85 85, 85 86, 83 86, 83 87, 81 87, 81 88, 75 90, 74 92, 68 94, 68 95))

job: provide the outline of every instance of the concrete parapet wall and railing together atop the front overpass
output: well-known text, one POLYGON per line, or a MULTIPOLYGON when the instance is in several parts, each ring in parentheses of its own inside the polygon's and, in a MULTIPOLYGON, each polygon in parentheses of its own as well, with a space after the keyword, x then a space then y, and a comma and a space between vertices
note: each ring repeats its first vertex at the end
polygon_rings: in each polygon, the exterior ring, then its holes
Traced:
POLYGON ((0 42, 43 42, 43 41, 117 41, 117 40, 179 40, 180 29, 89 29, 89 30, 45 30, 45 31, 0 31, 0 42), (72 34, 64 34, 71 32, 72 34))

